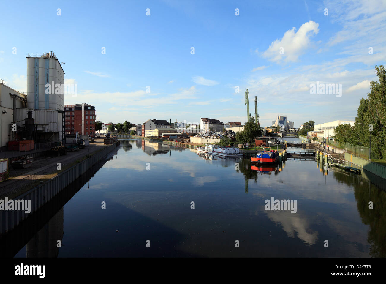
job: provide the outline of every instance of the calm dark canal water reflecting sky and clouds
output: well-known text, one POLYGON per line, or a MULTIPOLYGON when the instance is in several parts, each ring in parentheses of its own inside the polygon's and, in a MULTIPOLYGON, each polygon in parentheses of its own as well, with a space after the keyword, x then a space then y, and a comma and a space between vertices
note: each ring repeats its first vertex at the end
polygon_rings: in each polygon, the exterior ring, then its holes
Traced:
POLYGON ((369 174, 313 160, 255 167, 142 139, 106 159, 16 257, 386 255, 386 194, 369 174), (296 200, 294 213, 266 210, 272 199, 296 200))

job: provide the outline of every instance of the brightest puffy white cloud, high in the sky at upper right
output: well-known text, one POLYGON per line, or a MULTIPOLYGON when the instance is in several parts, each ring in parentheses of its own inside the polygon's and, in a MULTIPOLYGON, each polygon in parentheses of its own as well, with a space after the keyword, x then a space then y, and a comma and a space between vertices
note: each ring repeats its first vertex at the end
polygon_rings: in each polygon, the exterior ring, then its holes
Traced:
POLYGON ((295 32, 295 27, 286 31, 283 38, 272 42, 269 48, 264 51, 263 56, 270 61, 279 63, 297 61, 298 57, 303 54, 304 50, 310 47, 310 37, 318 34, 319 24, 309 21, 301 25, 295 32), (283 54, 280 54, 283 51, 283 54))

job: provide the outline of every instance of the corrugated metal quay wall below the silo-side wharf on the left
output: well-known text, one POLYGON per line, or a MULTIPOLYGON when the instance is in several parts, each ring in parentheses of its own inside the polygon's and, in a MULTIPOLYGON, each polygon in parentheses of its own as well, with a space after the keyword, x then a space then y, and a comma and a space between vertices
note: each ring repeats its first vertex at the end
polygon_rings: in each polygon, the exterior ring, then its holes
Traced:
POLYGON ((74 165, 67 170, 59 173, 52 179, 30 189, 29 191, 14 198, 14 200, 30 200, 30 213, 25 213, 22 210, 1 210, 0 211, 0 235, 7 233, 17 226, 24 219, 28 218, 32 213, 37 211, 39 207, 46 204, 49 200, 55 197, 62 189, 68 186, 71 182, 80 177, 83 173, 89 170, 93 165, 98 163, 103 157, 116 148, 115 143, 95 153, 90 158, 74 165))

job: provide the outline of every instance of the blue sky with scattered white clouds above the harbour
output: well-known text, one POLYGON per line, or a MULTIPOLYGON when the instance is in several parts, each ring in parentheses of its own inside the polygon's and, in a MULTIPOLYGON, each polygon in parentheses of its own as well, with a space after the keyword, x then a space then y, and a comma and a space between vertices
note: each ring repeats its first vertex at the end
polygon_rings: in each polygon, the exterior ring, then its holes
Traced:
POLYGON ((262 126, 279 114, 295 127, 354 120, 374 66, 386 63, 385 0, 16 1, 2 10, 0 78, 26 91, 25 56, 54 51, 66 83, 78 85, 64 103, 94 105, 103 122, 245 122, 246 88, 262 126), (310 94, 317 81, 342 84, 342 96, 310 94))

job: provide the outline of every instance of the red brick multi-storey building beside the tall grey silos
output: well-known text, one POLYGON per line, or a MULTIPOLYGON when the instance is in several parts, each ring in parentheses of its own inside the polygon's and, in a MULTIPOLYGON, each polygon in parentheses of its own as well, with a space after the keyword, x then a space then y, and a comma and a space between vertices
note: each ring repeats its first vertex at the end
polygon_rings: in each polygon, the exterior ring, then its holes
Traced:
POLYGON ((89 104, 64 105, 66 134, 95 136, 95 107, 89 104))

